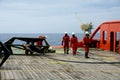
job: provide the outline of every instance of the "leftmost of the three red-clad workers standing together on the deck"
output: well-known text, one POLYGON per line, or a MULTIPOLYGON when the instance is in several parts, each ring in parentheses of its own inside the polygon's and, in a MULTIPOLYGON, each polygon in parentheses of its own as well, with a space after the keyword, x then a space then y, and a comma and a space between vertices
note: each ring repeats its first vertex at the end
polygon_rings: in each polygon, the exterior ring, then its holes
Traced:
POLYGON ((63 39, 62 39, 62 45, 64 47, 64 54, 69 54, 69 42, 70 42, 70 37, 67 34, 67 32, 65 32, 65 35, 63 36, 63 39))

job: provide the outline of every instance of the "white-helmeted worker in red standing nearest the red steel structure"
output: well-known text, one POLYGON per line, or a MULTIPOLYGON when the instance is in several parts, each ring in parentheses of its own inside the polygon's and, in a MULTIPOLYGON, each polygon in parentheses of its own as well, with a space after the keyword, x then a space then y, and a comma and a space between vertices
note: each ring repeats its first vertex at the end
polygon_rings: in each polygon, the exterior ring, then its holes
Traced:
POLYGON ((88 57, 89 45, 90 45, 89 33, 86 31, 85 32, 85 37, 83 38, 83 46, 84 46, 84 49, 85 49, 85 58, 89 58, 88 57))

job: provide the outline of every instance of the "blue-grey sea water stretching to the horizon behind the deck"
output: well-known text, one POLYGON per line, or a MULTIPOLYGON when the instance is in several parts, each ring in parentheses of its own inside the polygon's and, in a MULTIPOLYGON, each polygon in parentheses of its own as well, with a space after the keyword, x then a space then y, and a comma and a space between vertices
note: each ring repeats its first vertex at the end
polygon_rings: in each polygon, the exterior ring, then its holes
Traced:
MULTIPOLYGON (((71 34, 68 34, 71 37, 71 34)), ((6 42, 12 37, 28 37, 28 38, 38 38, 38 36, 47 36, 47 42, 51 46, 58 46, 61 45, 62 37, 64 36, 64 33, 0 33, 0 41, 6 42)), ((82 40, 84 37, 83 33, 76 33, 76 36, 78 37, 78 40, 82 40)), ((98 37, 98 35, 97 35, 98 37)), ((15 41, 15 44, 21 44, 24 43, 22 41, 15 41)))

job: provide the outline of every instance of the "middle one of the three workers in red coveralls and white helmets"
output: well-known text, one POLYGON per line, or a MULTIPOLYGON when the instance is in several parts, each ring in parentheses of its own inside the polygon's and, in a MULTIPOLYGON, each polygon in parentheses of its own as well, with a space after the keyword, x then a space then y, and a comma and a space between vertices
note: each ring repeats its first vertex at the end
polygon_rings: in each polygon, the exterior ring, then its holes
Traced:
POLYGON ((76 55, 77 53, 77 47, 78 47, 78 38, 75 36, 75 33, 72 33, 72 37, 70 40, 70 46, 72 48, 73 55, 76 55))

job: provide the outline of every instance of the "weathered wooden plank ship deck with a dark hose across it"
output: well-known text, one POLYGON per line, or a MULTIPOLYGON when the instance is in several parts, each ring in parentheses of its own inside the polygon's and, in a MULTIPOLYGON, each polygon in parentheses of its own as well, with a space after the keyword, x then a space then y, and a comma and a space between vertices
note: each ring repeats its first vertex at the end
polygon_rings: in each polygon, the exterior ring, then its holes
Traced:
MULTIPOLYGON (((120 80, 120 54, 91 49, 77 55, 56 53, 11 55, 0 68, 0 80, 120 80)), ((1 59, 0 59, 1 60, 1 59)))

